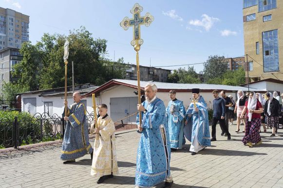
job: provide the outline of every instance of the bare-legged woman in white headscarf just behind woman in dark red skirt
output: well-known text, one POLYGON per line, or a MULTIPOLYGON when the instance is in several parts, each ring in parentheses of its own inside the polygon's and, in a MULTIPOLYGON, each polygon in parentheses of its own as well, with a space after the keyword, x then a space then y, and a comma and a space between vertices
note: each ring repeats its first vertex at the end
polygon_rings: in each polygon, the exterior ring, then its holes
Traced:
MULTIPOLYGON (((237 131, 235 131, 236 133, 238 133, 240 131, 240 123, 241 123, 241 114, 243 112, 243 109, 245 107, 245 101, 247 99, 247 97, 244 95, 244 92, 242 90, 239 90, 237 92, 237 103, 234 109, 234 113, 237 113, 237 131)), ((246 115, 245 115, 246 118, 246 115)), ((245 132, 245 119, 243 120, 244 122, 244 130, 243 133, 245 132)))

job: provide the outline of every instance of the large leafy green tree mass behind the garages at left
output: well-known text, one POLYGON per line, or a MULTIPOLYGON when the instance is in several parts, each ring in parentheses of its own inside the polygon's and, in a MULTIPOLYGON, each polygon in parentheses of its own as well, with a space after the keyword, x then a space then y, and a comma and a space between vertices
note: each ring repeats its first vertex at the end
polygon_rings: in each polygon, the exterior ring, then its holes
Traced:
MULTIPOLYGON (((123 77, 123 68, 113 69, 113 62, 103 56, 107 53, 107 41, 94 39, 81 27, 70 31, 68 36, 43 34, 35 45, 23 43, 20 53, 22 61, 15 65, 14 76, 18 84, 28 90, 49 89, 64 86, 64 43, 69 40, 67 83, 72 85, 72 61, 74 62, 75 85, 92 83, 101 85, 113 78, 123 77), (111 68, 110 68, 111 67, 111 68)), ((121 67, 121 66, 120 66, 121 67)))

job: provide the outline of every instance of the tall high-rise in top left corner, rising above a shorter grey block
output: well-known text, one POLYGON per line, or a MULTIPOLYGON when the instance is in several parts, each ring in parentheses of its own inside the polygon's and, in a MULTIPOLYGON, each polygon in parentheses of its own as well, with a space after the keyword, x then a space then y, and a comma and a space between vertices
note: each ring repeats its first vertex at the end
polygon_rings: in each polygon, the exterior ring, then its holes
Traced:
POLYGON ((0 50, 20 49, 24 41, 29 41, 29 16, 0 7, 0 50))

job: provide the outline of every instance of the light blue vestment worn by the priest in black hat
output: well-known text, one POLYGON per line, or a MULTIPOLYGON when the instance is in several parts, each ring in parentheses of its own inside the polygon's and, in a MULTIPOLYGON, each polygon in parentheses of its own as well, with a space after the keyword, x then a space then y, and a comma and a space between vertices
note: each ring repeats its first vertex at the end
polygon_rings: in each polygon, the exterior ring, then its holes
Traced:
MULTIPOLYGON (((210 133, 208 123, 208 108, 202 96, 199 97, 196 107, 199 109, 198 112, 194 110, 194 104, 190 103, 186 114, 192 114, 192 133, 191 143, 194 143, 194 139, 197 137, 197 142, 201 146, 210 146, 210 133), (196 137, 195 137, 196 136, 196 137)), ((194 146, 196 147, 196 146, 194 146)), ((198 151, 196 151, 198 152, 198 151)))

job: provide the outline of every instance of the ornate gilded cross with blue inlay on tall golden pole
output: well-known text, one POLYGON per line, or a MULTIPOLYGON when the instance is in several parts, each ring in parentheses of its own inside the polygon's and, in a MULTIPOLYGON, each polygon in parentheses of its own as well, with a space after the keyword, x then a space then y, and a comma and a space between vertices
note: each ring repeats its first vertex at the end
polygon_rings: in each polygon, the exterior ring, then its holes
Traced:
MULTIPOLYGON (((124 17, 124 19, 120 22, 120 26, 124 30, 128 30, 129 27, 133 27, 133 39, 131 41, 131 45, 133 49, 136 51, 136 74, 137 74, 137 91, 138 91, 138 103, 141 104, 141 93, 140 93, 140 73, 139 73, 139 55, 138 51, 140 50, 140 46, 143 44, 143 39, 140 38, 140 26, 150 26, 151 22, 154 20, 154 17, 151 16, 150 13, 146 13, 144 17, 140 16, 140 13, 143 11, 143 7, 138 3, 135 3, 131 9, 132 19, 129 17, 124 17)), ((141 125, 141 112, 139 112, 139 123, 141 125)))

